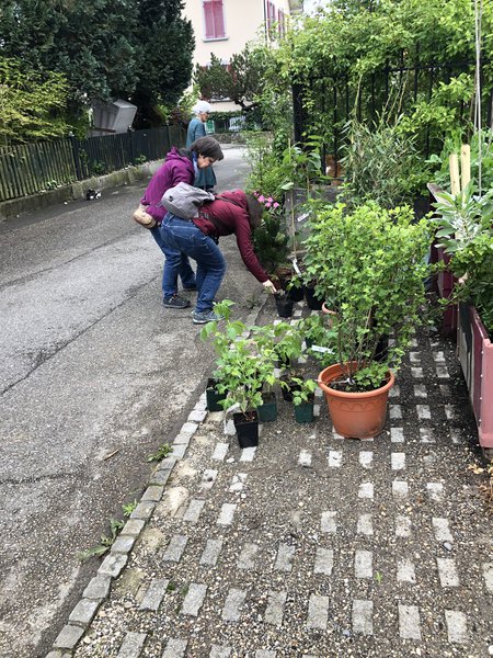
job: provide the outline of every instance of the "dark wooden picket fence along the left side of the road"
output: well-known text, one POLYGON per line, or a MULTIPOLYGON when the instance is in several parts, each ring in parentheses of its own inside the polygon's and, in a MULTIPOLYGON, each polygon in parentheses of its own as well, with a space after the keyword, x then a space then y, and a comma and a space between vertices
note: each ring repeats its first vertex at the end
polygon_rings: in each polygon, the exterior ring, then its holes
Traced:
POLYGON ((0 202, 164 158, 184 146, 180 126, 0 147, 0 202))

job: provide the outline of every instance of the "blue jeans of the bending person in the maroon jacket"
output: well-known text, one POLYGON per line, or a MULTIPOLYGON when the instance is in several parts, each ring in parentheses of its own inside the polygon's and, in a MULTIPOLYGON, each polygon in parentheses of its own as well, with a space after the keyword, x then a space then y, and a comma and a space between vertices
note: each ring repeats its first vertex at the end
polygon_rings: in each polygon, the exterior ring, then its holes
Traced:
POLYGON ((214 297, 221 285, 226 272, 226 261, 221 250, 209 236, 202 232, 193 222, 180 219, 168 213, 161 224, 161 238, 170 253, 179 256, 167 257, 164 263, 164 280, 167 266, 170 271, 177 266, 179 257, 184 253, 197 263, 197 305, 196 313, 211 310, 214 297))

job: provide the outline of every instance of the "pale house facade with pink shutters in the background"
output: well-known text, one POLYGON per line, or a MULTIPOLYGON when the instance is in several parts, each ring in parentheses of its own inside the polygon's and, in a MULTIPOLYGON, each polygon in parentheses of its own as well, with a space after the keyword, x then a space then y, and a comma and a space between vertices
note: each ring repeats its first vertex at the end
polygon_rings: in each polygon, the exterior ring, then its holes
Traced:
MULTIPOLYGON (((207 66, 210 53, 228 65, 249 41, 265 35, 275 26, 280 33, 290 14, 299 12, 300 0, 185 0, 183 15, 195 34, 194 68, 207 66)), ((217 112, 238 110, 234 103, 211 100, 217 112)))

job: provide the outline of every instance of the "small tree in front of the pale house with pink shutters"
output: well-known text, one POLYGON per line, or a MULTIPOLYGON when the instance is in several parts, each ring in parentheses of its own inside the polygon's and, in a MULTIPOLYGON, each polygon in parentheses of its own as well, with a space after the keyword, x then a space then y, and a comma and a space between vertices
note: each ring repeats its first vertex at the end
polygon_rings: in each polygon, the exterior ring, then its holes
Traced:
POLYGON ((226 66, 211 53, 210 65, 197 65, 194 79, 205 98, 230 99, 249 112, 259 105, 256 98, 263 92, 267 59, 267 48, 249 44, 226 66))

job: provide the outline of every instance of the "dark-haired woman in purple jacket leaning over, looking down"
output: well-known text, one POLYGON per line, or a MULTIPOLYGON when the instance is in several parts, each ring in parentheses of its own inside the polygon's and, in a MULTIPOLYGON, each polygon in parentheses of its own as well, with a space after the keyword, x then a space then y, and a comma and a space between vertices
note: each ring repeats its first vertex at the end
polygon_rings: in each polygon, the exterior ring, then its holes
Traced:
POLYGON ((161 222, 167 214, 167 209, 161 205, 161 197, 167 190, 174 188, 179 183, 188 183, 193 185, 196 173, 200 169, 210 167, 217 160, 222 160, 223 155, 219 141, 213 137, 200 137, 196 139, 190 150, 173 147, 167 155, 164 162, 151 178, 140 203, 146 212, 157 222, 150 229, 152 237, 164 253, 167 276, 162 277, 162 303, 168 308, 187 308, 188 299, 177 295, 177 277, 182 280, 185 291, 196 291, 194 271, 191 268, 188 257, 175 251, 172 247, 165 245, 160 235, 161 222), (170 264, 173 262, 173 271, 170 273, 170 264))

